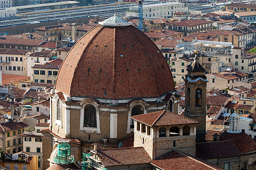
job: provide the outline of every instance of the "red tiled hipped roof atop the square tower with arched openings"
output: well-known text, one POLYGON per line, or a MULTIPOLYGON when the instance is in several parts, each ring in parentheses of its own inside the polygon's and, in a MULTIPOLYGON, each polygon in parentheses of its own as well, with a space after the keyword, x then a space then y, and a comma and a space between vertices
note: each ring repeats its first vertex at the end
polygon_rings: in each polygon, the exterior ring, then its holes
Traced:
POLYGON ((158 111, 131 117, 148 126, 199 124, 198 121, 170 111, 158 111))

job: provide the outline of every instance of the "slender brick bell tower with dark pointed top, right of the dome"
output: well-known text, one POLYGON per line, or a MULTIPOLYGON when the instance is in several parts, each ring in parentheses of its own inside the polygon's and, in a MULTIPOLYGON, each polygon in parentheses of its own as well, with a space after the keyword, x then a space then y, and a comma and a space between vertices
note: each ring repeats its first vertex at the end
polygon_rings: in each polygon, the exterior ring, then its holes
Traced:
POLYGON ((199 121, 196 126, 196 142, 204 142, 206 132, 206 91, 207 77, 205 69, 196 57, 192 65, 188 66, 185 81, 185 116, 199 121))

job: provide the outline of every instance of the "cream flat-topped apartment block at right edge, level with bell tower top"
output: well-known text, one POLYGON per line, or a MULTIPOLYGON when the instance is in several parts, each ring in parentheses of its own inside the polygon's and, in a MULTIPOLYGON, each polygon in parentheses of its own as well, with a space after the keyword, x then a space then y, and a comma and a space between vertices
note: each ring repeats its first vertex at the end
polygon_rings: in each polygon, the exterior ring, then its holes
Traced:
POLYGON ((232 68, 249 74, 248 82, 256 80, 256 54, 244 54, 243 48, 233 48, 232 68))

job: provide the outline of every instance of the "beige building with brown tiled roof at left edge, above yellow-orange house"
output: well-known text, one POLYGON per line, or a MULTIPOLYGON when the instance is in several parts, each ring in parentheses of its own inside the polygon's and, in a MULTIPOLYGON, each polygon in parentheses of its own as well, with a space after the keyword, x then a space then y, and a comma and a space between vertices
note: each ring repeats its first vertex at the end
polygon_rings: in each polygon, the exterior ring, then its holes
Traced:
POLYGON ((22 134, 28 125, 23 122, 3 122, 0 124, 0 147, 9 154, 15 154, 23 150, 23 141, 18 135, 22 134))

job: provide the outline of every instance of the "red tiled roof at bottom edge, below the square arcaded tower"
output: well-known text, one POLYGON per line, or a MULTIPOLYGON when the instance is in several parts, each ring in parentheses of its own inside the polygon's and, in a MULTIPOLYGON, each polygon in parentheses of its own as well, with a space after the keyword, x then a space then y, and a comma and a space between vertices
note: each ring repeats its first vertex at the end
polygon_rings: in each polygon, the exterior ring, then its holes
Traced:
POLYGON ((160 158, 152 160, 151 164, 164 170, 221 169, 205 162, 204 160, 175 150, 160 156, 160 158))

